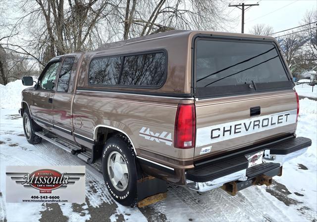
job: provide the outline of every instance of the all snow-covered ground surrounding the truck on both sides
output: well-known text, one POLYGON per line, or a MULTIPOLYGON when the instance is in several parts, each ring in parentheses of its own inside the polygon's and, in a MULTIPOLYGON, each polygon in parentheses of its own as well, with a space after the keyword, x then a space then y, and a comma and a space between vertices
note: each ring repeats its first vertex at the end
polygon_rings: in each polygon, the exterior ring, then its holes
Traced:
POLYGON ((60 217, 67 221, 317 221, 317 101, 300 99, 296 133, 311 138, 313 144, 304 155, 283 165, 283 176, 273 178, 278 182, 275 185, 251 186, 229 196, 222 189, 199 194, 168 184, 165 200, 138 209, 117 204, 102 174, 77 157, 46 141, 37 145, 26 141, 17 113, 22 89, 20 81, 0 86, 0 221, 51 221, 60 217), (86 203, 5 203, 8 165, 85 165, 86 203), (50 212, 49 218, 45 211, 50 212))

